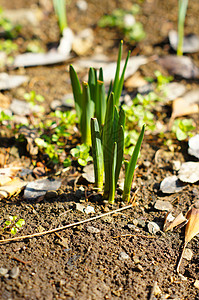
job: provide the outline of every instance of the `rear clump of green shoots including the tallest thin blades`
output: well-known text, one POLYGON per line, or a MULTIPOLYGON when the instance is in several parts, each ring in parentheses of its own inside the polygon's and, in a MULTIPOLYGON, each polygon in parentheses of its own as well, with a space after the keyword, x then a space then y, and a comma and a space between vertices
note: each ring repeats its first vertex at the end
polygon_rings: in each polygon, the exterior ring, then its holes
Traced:
POLYGON ((78 123, 80 126, 82 142, 85 144, 91 145, 91 118, 97 118, 100 130, 103 127, 106 114, 107 99, 109 98, 111 92, 113 92, 115 95, 114 105, 119 105, 119 98, 121 96, 124 83, 124 73, 130 56, 129 52, 120 76, 122 45, 123 42, 121 41, 118 53, 115 78, 113 85, 112 83, 110 83, 108 95, 105 94, 102 68, 99 70, 98 77, 97 71, 93 68, 90 68, 88 75, 88 83, 83 82, 81 87, 77 73, 75 72, 73 66, 70 66, 70 78, 73 89, 73 96, 75 100, 75 109, 77 113, 78 123))

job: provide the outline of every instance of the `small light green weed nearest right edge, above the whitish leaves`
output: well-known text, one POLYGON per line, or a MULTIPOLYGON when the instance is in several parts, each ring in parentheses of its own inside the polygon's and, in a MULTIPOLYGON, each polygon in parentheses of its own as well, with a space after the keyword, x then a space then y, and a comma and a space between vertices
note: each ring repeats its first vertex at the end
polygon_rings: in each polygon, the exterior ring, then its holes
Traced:
POLYGON ((188 136, 193 136, 192 131, 195 129, 192 119, 176 119, 172 126, 172 132, 176 134, 179 141, 185 140, 188 136))

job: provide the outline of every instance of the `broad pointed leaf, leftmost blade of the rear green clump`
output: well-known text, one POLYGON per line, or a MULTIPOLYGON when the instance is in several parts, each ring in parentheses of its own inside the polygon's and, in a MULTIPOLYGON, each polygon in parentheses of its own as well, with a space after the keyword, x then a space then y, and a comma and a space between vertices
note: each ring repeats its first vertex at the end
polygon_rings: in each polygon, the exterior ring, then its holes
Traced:
POLYGON ((75 109, 77 113, 77 118, 80 122, 81 114, 82 114, 82 89, 81 85, 77 76, 77 73, 75 72, 75 69, 72 65, 70 65, 70 80, 73 90, 73 96, 75 100, 75 109))

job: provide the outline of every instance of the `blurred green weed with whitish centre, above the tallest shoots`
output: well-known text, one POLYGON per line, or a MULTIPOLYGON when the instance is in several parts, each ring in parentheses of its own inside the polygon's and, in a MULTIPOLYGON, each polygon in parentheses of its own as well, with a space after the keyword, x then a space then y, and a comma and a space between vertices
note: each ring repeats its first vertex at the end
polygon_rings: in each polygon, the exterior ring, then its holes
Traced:
POLYGON ((139 12, 139 6, 134 4, 130 10, 115 9, 111 15, 103 16, 98 25, 100 27, 117 27, 129 41, 140 41, 145 38, 143 25, 131 20, 139 12), (130 21, 130 22, 129 22, 130 21))

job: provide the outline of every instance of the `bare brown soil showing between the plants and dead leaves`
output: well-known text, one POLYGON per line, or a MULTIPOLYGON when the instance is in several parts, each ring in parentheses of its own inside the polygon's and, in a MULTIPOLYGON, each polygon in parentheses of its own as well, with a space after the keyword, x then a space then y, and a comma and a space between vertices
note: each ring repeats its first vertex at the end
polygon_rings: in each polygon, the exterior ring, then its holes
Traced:
MULTIPOLYGON (((47 2, 0 0, 0 6, 18 9, 38 5, 45 9, 47 2)), ((85 15, 79 14, 76 2, 70 1, 68 4, 68 23, 75 32, 89 26, 93 28, 95 42, 88 55, 93 54, 98 46, 102 47, 103 53, 115 60, 122 34, 113 29, 100 29, 97 21, 104 13, 111 12, 116 7, 128 8, 135 1, 88 0, 85 15)), ((167 34, 170 29, 177 28, 177 1, 146 0, 138 3, 141 6, 138 19, 144 25, 146 38, 138 44, 129 44, 124 40, 124 56, 128 49, 136 55, 147 56, 174 53, 168 44, 167 34)), ((189 1, 185 32, 199 34, 198 9, 197 0, 189 1)), ((28 28, 23 34, 26 38, 31 38, 34 31, 28 28)), ((37 36, 46 47, 49 43, 58 41, 59 29, 53 12, 46 13, 37 36)), ((23 52, 23 43, 19 50, 23 52)), ((198 53, 189 56, 199 66, 198 53)), ((76 59, 74 56, 71 61, 76 59)), ((25 88, 12 89, 4 94, 10 99, 20 98, 21 89, 25 92, 34 89, 45 97, 46 110, 49 111, 48 104, 52 100, 71 92, 68 65, 69 62, 10 70, 10 74, 26 74, 33 81, 25 88)), ((151 76, 157 69, 167 74, 156 62, 140 68, 143 76, 151 76)), ((198 85, 198 80, 182 82, 189 85, 189 88, 198 85)), ((7 146, 11 141, 12 137, 1 137, 1 147, 7 146)), ((16 145, 13 143, 10 146, 14 149, 16 145)), ((24 160, 27 165, 31 163, 27 156, 20 157, 16 154, 15 159, 24 160)), ((19 274, 14 279, 3 276, 0 278, 0 299, 199 299, 199 289, 194 287, 194 282, 199 280, 198 237, 188 245, 193 257, 190 261, 183 259, 180 270, 184 277, 180 276, 176 273, 176 265, 183 247, 184 230, 164 233, 165 211, 154 208, 157 200, 166 200, 172 203, 175 212, 186 213, 199 192, 198 184, 188 184, 182 192, 172 195, 159 192, 160 182, 167 175, 173 174, 171 162, 176 159, 181 162, 188 159, 186 142, 175 141, 172 152, 159 137, 145 136, 134 182, 134 192, 137 191, 134 207, 59 231, 58 235, 52 233, 1 244, 0 268, 11 270, 18 267, 19 274), (158 223, 161 231, 149 234, 149 221, 158 223), (99 230, 92 233, 89 226, 99 230), (156 282, 161 292, 151 297, 156 282)), ((75 173, 74 169, 73 171, 75 173)), ((23 198, 23 192, 9 200, 2 200, 0 224, 3 224, 8 215, 20 216, 26 224, 19 234, 26 235, 78 222, 127 205, 121 202, 119 191, 118 200, 110 205, 97 197, 91 186, 77 183, 74 188, 75 177, 69 175, 67 173, 62 176, 62 185, 57 194, 46 196, 42 201, 27 202, 23 198), (79 189, 80 186, 83 188, 79 189), (95 214, 88 216, 75 210, 75 204, 79 202, 93 206, 95 214)))

